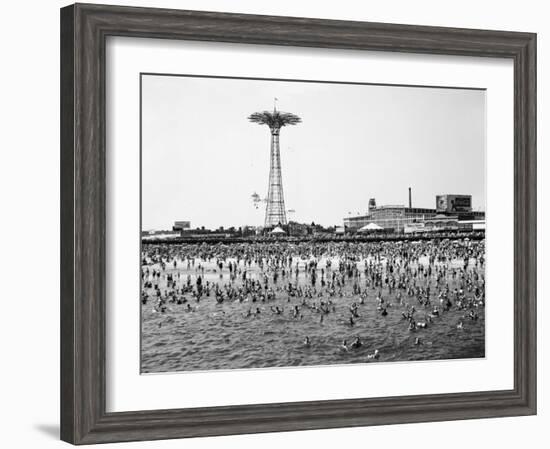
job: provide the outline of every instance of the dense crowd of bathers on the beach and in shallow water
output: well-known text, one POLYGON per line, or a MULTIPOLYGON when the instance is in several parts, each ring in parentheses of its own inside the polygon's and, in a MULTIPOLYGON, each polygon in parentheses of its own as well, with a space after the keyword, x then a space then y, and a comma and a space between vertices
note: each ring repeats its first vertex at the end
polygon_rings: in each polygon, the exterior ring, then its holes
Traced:
MULTIPOLYGON (((485 241, 250 242, 148 244, 142 247, 141 303, 149 313, 201 313, 201 304, 224 307, 240 320, 265 314, 290 320, 336 319, 353 328, 362 308, 378 319, 398 314, 417 332, 461 311, 456 329, 476 321, 485 306, 485 241), (334 318, 333 318, 334 317, 334 318)), ((159 322, 159 326, 162 322, 159 322)), ((419 335, 415 345, 422 345, 419 335)), ((315 345, 303 335, 302 345, 315 345)), ((339 350, 364 346, 343 339, 339 350)), ((371 348, 367 359, 378 360, 371 348)))

